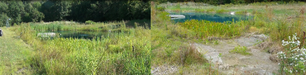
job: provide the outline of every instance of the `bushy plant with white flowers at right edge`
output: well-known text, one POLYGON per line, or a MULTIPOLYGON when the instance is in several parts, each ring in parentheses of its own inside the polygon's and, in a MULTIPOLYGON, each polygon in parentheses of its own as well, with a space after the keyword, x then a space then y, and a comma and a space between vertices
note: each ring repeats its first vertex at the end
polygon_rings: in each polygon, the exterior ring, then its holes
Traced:
POLYGON ((288 41, 282 41, 285 48, 284 52, 278 52, 278 58, 281 59, 279 66, 281 66, 281 73, 302 75, 306 70, 306 49, 304 46, 300 48, 300 41, 298 41, 297 33, 288 41))

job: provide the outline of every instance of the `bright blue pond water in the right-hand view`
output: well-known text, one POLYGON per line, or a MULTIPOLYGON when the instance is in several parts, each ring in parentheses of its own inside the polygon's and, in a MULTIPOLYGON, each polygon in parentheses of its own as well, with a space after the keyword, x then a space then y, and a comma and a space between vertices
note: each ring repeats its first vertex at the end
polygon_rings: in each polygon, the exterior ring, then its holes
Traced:
POLYGON ((170 15, 184 15, 185 18, 171 18, 175 23, 185 22, 185 20, 208 20, 215 22, 239 21, 252 19, 252 16, 247 15, 231 15, 225 13, 201 13, 201 12, 169 12, 170 15))

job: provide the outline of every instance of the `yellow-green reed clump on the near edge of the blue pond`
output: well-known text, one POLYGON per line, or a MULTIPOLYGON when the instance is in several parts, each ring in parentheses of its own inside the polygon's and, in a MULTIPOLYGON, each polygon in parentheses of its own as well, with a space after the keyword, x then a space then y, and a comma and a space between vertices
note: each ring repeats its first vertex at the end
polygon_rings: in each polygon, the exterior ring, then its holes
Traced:
POLYGON ((232 37, 240 36, 241 26, 232 22, 217 23, 207 20, 186 20, 182 27, 193 30, 199 37, 232 37))

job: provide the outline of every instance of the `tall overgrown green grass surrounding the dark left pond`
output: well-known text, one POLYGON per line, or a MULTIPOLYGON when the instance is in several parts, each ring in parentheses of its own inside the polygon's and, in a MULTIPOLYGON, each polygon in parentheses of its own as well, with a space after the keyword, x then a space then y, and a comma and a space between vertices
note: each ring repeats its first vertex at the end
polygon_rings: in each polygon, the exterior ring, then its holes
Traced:
POLYGON ((123 22, 90 25, 54 22, 22 23, 15 31, 26 33, 20 38, 34 48, 29 63, 35 74, 150 74, 151 37, 150 30, 144 27, 128 28, 123 22), (119 33, 109 33, 97 40, 36 36, 37 32, 47 30, 88 29, 119 33))

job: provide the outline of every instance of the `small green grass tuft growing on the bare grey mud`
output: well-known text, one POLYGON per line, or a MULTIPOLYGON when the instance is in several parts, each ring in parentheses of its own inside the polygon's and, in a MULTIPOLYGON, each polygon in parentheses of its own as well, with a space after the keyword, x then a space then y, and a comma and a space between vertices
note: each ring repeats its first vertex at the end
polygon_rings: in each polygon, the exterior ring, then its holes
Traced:
POLYGON ((239 54, 242 54, 242 55, 252 55, 252 53, 249 53, 247 51, 248 51, 248 48, 239 45, 229 52, 230 53, 239 53, 239 54))

